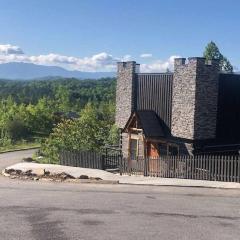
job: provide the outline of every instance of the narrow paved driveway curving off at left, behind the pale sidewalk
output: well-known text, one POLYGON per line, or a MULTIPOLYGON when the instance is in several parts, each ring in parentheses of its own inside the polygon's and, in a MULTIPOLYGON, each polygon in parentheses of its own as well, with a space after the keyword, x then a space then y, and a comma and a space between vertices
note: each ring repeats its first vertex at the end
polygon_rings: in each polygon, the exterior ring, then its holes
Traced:
POLYGON ((9 153, 1 153, 0 154, 0 171, 4 168, 13 165, 15 163, 21 162, 25 157, 31 157, 36 150, 24 150, 24 151, 16 151, 9 153))

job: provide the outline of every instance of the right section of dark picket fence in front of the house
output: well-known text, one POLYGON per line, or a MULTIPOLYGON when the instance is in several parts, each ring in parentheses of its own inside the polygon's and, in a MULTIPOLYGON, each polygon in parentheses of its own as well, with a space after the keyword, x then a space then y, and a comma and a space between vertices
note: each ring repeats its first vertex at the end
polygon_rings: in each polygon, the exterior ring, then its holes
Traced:
POLYGON ((121 174, 240 182, 239 156, 163 156, 122 159, 121 174))

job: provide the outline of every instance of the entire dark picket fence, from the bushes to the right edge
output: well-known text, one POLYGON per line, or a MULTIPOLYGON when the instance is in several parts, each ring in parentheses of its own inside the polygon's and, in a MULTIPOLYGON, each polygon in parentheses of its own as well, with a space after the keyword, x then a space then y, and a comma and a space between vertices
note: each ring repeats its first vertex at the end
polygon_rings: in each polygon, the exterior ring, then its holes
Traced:
POLYGON ((95 169, 119 169, 120 174, 163 178, 182 178, 209 181, 240 182, 239 156, 162 156, 123 158, 118 149, 103 153, 92 151, 63 151, 60 164, 95 169))

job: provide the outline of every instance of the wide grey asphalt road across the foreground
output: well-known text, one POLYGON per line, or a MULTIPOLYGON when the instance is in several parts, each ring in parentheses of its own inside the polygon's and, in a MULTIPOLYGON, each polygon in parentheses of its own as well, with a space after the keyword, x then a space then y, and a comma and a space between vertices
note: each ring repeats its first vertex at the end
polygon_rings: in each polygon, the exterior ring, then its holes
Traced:
POLYGON ((239 236, 239 190, 0 178, 1 240, 238 240, 239 236))

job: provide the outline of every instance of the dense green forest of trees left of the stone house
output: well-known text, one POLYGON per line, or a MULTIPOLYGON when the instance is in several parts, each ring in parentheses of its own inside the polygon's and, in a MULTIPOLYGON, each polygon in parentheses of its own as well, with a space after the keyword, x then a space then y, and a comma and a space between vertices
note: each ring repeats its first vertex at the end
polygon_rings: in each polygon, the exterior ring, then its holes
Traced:
POLYGON ((61 148, 97 150, 117 140, 116 80, 0 80, 0 147, 39 141, 56 157, 61 148))

